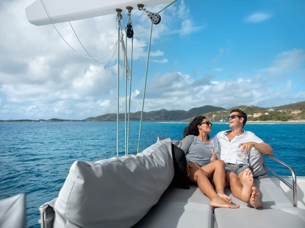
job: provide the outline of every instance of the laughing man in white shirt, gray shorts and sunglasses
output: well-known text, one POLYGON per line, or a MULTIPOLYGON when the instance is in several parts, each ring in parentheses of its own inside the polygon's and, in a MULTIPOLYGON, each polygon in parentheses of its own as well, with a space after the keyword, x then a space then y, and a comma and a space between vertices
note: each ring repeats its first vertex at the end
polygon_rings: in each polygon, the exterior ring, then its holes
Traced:
POLYGON ((248 154, 254 147, 260 153, 272 155, 272 147, 264 143, 259 137, 250 131, 242 130, 247 121, 247 115, 240 109, 233 109, 228 117, 231 130, 221 131, 217 134, 221 146, 221 160, 225 162, 226 184, 230 186, 232 194, 248 203, 254 208, 262 208, 260 192, 253 185, 253 170, 249 166, 247 157, 243 159, 239 154, 248 154))

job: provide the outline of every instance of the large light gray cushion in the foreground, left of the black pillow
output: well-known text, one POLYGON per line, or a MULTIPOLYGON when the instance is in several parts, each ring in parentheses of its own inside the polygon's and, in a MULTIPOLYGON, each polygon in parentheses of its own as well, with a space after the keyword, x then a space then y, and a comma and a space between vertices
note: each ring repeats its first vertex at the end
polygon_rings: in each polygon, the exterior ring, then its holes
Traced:
POLYGON ((54 228, 130 227, 158 202, 173 177, 166 140, 136 156, 76 161, 54 206, 54 228))

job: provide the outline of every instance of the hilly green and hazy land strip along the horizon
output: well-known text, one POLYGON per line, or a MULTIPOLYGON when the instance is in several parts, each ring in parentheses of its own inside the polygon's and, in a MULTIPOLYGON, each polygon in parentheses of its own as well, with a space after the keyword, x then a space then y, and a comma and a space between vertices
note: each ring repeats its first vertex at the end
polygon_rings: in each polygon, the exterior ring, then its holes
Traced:
MULTIPOLYGON (((209 120, 226 120, 232 109, 241 109, 248 115, 248 120, 252 121, 305 121, 305 101, 295 102, 288 105, 274 106, 270 108, 261 108, 252 105, 242 105, 224 109, 211 105, 205 105, 198 108, 184 110, 166 110, 143 112, 144 121, 171 121, 171 120, 191 120, 195 116, 203 115, 209 120)), ((141 112, 130 113, 131 121, 139 121, 141 112)), ((119 121, 125 120, 125 113, 119 113, 119 121)), ((83 120, 70 119, 20 119, 20 120, 0 120, 0 122, 67 122, 67 121, 117 121, 116 113, 108 113, 101 116, 89 117, 83 120)))

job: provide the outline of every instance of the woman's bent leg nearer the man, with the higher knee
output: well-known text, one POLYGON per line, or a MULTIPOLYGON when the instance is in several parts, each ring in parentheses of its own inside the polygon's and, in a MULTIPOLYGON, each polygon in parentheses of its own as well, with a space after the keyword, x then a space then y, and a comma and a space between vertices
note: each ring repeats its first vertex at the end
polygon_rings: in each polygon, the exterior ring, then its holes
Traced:
POLYGON ((201 169, 208 173, 209 179, 214 181, 217 194, 224 200, 231 203, 231 197, 224 194, 224 184, 226 180, 226 173, 224 171, 224 161, 216 160, 201 169))

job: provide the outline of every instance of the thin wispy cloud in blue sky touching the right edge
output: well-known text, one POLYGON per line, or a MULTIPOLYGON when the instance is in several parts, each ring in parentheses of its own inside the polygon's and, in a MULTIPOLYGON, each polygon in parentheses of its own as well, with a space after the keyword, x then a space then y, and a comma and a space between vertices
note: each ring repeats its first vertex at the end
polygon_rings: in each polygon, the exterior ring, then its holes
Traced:
POLYGON ((262 71, 272 74, 284 74, 300 67, 305 62, 305 49, 294 48, 290 51, 283 51, 275 57, 270 67, 262 71))

